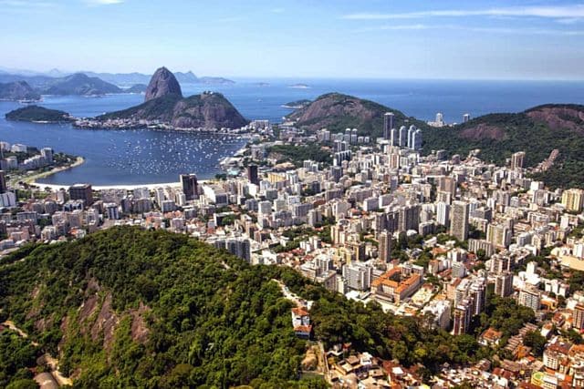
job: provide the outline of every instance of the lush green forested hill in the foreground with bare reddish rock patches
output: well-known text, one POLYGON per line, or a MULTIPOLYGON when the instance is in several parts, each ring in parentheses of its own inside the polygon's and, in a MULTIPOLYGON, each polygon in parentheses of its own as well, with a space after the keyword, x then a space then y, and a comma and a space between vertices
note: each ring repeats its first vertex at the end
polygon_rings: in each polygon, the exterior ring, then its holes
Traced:
MULTIPOLYGON (((16 322, 39 343, 36 353, 57 356, 77 387, 308 387, 295 381, 306 341, 295 337, 292 303, 273 279, 315 301, 315 337, 327 346, 351 342, 429 369, 472 360, 478 349, 472 336, 349 302, 291 269, 251 266, 183 235, 130 227, 5 257, 0 322, 16 322)), ((10 347, 0 386, 35 364, 16 358, 19 343, 10 347)))

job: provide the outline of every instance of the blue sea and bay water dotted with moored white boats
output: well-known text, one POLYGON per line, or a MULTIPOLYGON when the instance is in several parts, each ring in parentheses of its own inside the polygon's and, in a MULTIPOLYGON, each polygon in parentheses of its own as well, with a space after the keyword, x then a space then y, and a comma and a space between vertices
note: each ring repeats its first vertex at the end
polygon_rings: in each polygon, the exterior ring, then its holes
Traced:
MULTIPOLYGON (((441 112, 448 123, 493 112, 518 112, 546 103, 584 104, 584 81, 480 81, 391 79, 235 79, 233 85, 183 85, 183 95, 205 90, 223 93, 248 119, 281 122, 291 112, 283 107, 299 99, 328 92, 367 98, 408 116, 433 120, 441 112), (306 87, 298 87, 297 84, 306 87)), ((76 117, 140 104, 142 95, 103 97, 47 96, 40 105, 61 109, 76 117)), ((221 172, 219 161, 245 145, 245 139, 212 133, 185 133, 148 129, 78 129, 63 124, 9 122, 5 113, 16 102, 0 101, 0 140, 81 156, 85 163, 58 172, 40 182, 99 186, 175 182, 179 174, 196 173, 210 179, 221 172)))

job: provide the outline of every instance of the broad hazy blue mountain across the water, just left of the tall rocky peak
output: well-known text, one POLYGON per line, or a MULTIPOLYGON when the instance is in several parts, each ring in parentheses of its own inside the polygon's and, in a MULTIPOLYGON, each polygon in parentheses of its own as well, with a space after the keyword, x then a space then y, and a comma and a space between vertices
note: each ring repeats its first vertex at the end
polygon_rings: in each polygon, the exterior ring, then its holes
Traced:
POLYGON ((76 73, 63 78, 55 78, 42 89, 45 95, 81 95, 94 96, 107 93, 121 93, 120 87, 105 82, 98 77, 88 77, 83 73, 76 73))

